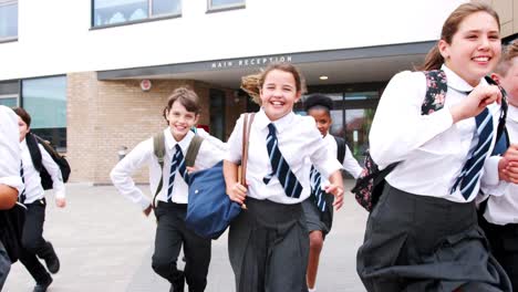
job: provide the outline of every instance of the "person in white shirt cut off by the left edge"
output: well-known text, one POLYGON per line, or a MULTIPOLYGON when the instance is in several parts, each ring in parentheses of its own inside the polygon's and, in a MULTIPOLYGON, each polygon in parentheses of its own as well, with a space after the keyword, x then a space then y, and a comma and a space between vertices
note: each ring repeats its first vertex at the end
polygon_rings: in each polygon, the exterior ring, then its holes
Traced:
MULTIPOLYGON (((0 105, 0 217, 6 215, 7 210, 11 209, 19 194, 23 191, 23 182, 20 177, 20 143, 18 132, 18 118, 11 108, 0 105)), ((11 260, 9 258, 6 246, 11 242, 3 234, 7 232, 6 226, 0 225, 0 291, 6 283, 6 279, 11 269, 11 260)))

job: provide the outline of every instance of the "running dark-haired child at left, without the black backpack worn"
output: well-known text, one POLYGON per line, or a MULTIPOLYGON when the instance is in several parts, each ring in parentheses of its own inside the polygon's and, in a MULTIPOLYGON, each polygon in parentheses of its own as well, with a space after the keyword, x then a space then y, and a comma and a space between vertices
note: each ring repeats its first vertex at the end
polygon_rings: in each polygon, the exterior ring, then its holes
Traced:
MULTIPOLYGON (((28 148, 27 139, 32 135, 30 133, 31 116, 21 107, 15 107, 13 111, 18 115, 23 179, 25 184, 25 190, 20 195, 20 202, 27 207, 22 232, 23 249, 21 250, 20 262, 37 282, 34 292, 43 292, 52 283, 52 277, 49 272, 56 273, 60 270, 60 260, 55 254, 52 243, 43 238, 46 200, 45 192, 41 186, 40 173, 34 168, 31 153, 28 148), (38 258, 45 261, 46 269, 38 258)), ((41 152, 41 163, 52 177, 55 205, 63 208, 66 205, 66 200, 60 167, 54 163, 49 153, 44 150, 43 146, 38 146, 41 152)))

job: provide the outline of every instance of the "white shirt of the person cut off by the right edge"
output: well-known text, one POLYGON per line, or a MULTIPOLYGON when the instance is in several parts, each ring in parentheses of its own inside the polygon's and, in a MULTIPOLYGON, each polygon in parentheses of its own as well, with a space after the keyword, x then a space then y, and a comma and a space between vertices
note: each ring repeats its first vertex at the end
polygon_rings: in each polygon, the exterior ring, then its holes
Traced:
MULTIPOLYGON (((509 142, 518 142, 518 108, 509 104, 506 119, 509 142)), ((498 167, 495 160, 495 167, 498 167)), ((483 188, 485 194, 491 195, 484 212, 486 220, 494 225, 518 223, 518 185, 498 181, 490 187, 483 188)), ((495 182, 495 181, 493 181, 495 182)))

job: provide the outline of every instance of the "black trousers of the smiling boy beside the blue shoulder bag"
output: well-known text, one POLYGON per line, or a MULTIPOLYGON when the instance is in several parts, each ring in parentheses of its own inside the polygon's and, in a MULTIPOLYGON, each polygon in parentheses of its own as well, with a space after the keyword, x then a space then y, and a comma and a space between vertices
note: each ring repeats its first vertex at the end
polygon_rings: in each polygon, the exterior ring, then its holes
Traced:
POLYGON ((155 209, 157 219, 153 270, 170 283, 182 277, 176 262, 184 246, 185 279, 189 292, 201 292, 207 285, 210 263, 210 239, 197 236, 185 226, 186 204, 159 201, 155 209))

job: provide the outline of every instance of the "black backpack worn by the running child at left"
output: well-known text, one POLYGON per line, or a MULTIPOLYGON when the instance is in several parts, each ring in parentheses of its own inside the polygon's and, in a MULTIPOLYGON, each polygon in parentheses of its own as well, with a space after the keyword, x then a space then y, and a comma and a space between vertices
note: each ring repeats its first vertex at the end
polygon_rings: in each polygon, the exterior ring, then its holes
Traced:
POLYGON ((54 160, 54 163, 60 167, 63 182, 69 181, 71 169, 69 161, 66 161, 64 156, 60 155, 48 142, 40 138, 35 134, 27 134, 25 140, 29 153, 31 154, 32 164, 34 165, 35 170, 40 173, 41 186, 43 189, 52 188, 52 177, 49 175, 46 169, 43 167, 43 164, 41 163, 41 152, 40 147, 38 147, 38 144, 43 146, 43 149, 45 149, 45 152, 52 157, 52 160, 54 160))

